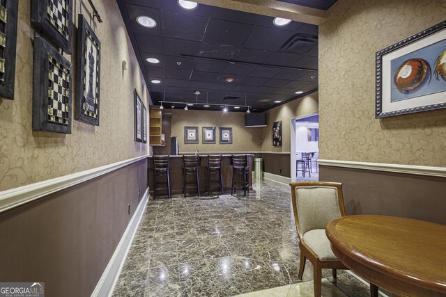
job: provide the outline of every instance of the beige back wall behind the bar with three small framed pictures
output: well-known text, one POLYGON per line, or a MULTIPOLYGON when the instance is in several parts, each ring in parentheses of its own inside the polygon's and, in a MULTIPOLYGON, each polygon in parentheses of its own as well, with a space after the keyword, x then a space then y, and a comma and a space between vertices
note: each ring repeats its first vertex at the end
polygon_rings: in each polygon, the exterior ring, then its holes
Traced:
POLYGON ((262 128, 245 128, 245 113, 222 111, 185 111, 172 109, 171 136, 178 136, 180 154, 183 152, 256 152, 261 150, 262 128), (199 143, 184 143, 184 127, 199 127, 199 143), (202 142, 202 127, 216 127, 216 143, 202 142), (232 127, 232 144, 219 143, 219 127, 232 127))

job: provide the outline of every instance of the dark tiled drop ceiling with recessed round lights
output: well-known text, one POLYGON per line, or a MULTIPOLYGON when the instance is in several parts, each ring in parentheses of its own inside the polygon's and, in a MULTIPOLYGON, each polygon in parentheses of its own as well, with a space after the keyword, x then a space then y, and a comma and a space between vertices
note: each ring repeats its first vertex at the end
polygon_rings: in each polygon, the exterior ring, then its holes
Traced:
POLYGON ((293 21, 279 27, 273 17, 203 4, 185 10, 177 0, 118 0, 118 4, 155 105, 162 100, 184 102, 164 104, 179 109, 198 101, 216 105, 195 104, 189 109, 220 110, 227 104, 230 111, 246 111, 243 106, 248 105, 261 112, 318 88, 316 25, 293 21), (141 26, 137 23, 141 15, 157 25, 141 26), (148 63, 146 58, 160 63, 148 63))

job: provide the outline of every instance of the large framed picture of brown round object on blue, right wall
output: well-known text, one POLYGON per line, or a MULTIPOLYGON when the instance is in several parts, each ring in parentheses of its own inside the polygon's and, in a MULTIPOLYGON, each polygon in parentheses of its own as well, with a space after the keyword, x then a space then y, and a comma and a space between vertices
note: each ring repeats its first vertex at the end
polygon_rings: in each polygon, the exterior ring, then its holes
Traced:
POLYGON ((446 21, 376 53, 376 118, 446 108, 446 21))

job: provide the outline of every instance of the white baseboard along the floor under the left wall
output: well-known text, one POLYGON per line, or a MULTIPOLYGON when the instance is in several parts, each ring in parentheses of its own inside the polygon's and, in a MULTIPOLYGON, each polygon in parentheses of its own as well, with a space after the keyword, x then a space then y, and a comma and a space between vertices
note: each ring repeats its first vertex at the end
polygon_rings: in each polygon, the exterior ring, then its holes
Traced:
POLYGON ((98 284, 96 284, 96 287, 91 294, 92 297, 112 296, 116 282, 121 274, 121 269, 123 268, 125 258, 127 257, 128 250, 130 249, 130 246, 132 246, 134 234, 136 233, 139 223, 141 222, 144 209, 146 209, 146 204, 148 202, 148 190, 149 188, 146 189, 146 193, 144 193, 141 202, 139 202, 137 210, 134 212, 134 215, 128 223, 127 228, 125 228, 125 232, 121 237, 118 246, 116 246, 116 250, 114 250, 112 259, 110 259, 109 264, 107 264, 104 273, 102 273, 98 284))

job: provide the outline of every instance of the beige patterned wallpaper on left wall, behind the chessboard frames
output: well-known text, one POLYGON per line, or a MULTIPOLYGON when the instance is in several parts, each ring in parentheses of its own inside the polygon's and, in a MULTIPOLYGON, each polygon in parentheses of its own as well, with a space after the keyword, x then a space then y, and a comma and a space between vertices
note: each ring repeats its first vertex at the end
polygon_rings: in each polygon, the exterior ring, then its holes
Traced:
MULTIPOLYGON (((36 32, 30 25, 31 1, 19 2, 15 98, 13 101, 0 99, 0 191, 148 152, 148 145, 133 141, 134 88, 146 106, 149 98, 121 13, 115 0, 94 2, 103 12, 103 23, 91 22, 91 8, 86 0, 81 1, 82 6, 74 1, 73 20, 77 26, 77 14, 82 11, 102 43, 100 126, 86 125, 73 116, 70 135, 32 131, 33 36, 36 32), (122 70, 122 61, 128 62, 128 70, 122 70)), ((76 34, 73 30, 72 37, 76 34)), ((75 45, 73 42, 73 50, 75 45)), ((75 68, 75 54, 64 56, 75 68)))

